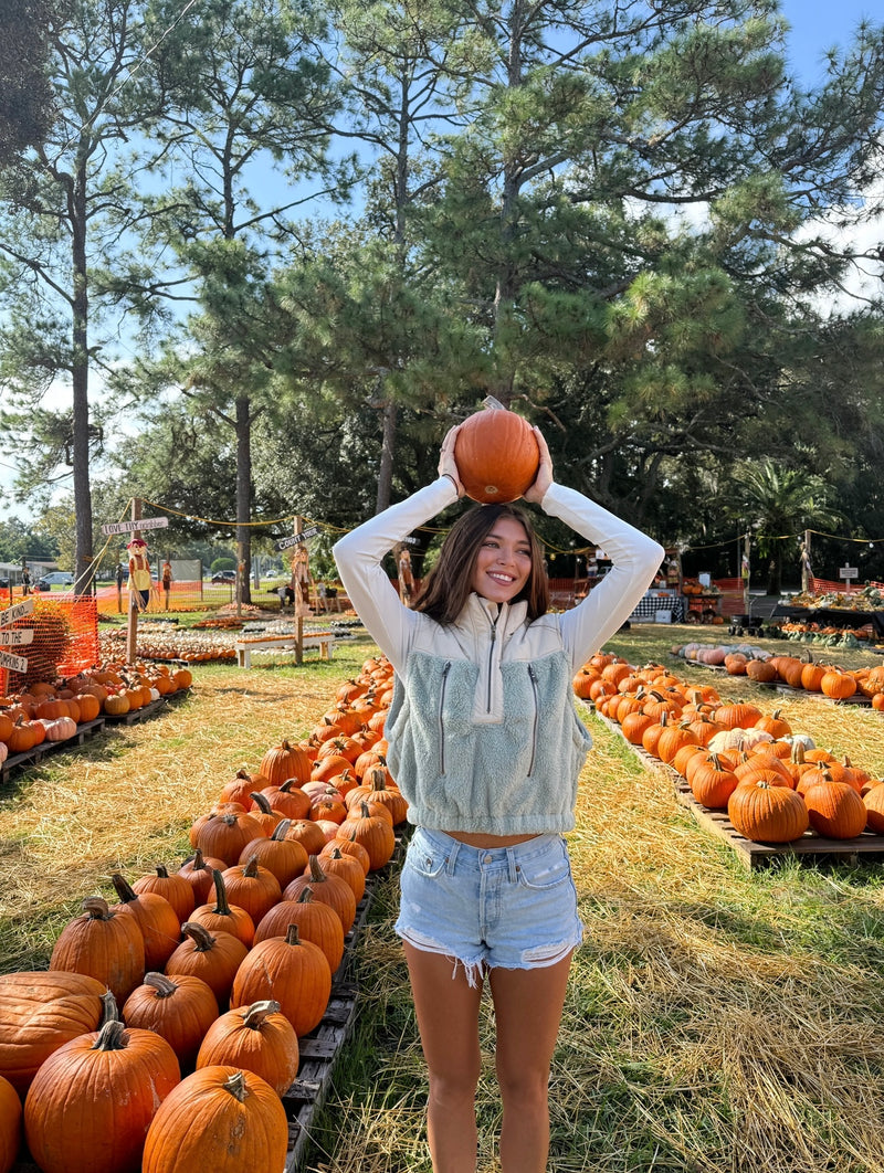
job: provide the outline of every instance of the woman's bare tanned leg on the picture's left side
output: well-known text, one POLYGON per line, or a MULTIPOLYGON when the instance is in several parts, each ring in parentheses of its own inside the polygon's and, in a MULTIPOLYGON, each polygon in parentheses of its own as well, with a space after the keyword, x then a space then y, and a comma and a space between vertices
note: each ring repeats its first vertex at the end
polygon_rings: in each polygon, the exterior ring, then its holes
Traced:
POLYGON ((427 1139, 433 1173, 475 1173, 481 982, 461 965, 405 942, 405 957, 430 1076, 427 1139))

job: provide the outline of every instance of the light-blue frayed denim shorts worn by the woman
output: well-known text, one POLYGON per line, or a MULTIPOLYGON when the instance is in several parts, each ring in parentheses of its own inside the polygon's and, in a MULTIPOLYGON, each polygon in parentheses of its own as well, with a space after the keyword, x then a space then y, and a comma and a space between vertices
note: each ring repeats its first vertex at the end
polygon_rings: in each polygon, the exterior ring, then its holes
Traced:
POLYGON ((451 957, 454 972, 461 964, 470 985, 495 968, 554 965, 582 940, 561 835, 478 848, 418 827, 400 886, 396 931, 416 949, 451 957))

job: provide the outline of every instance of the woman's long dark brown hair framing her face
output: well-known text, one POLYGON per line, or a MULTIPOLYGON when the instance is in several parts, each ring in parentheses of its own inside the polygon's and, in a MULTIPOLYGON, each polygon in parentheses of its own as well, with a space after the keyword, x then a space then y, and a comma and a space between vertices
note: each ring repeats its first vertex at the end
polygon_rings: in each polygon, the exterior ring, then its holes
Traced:
POLYGON ((458 517, 443 542, 436 565, 424 579, 420 596, 413 604, 416 611, 445 625, 457 619, 473 590, 473 571, 481 544, 500 517, 518 521, 531 547, 531 572, 512 602, 527 602, 529 621, 546 615, 549 583, 544 571, 544 550, 528 515, 512 504, 475 506, 458 517))

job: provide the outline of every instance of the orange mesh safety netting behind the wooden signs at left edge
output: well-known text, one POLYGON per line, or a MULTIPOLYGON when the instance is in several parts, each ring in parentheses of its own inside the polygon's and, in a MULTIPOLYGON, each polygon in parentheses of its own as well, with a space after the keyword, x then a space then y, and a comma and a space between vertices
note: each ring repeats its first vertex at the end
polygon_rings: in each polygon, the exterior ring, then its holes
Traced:
MULTIPOLYGON (((0 599, 0 606, 7 599, 0 599)), ((4 647, 27 659, 27 669, 16 672, 0 667, 0 692, 22 692, 39 680, 75 676, 99 662, 99 612, 92 595, 34 595, 34 610, 11 623, 9 629, 32 630, 28 644, 4 647)))

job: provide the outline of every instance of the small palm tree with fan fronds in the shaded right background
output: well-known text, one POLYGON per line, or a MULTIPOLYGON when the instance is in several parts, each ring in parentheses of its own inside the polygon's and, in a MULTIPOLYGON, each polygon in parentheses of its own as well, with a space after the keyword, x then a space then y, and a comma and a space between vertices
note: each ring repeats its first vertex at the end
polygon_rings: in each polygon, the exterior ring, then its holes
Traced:
POLYGON ((768 564, 768 595, 778 595, 783 562, 809 526, 832 527, 841 520, 829 507, 829 486, 803 468, 784 468, 765 457, 743 461, 734 474, 730 500, 755 531, 758 554, 768 564))

